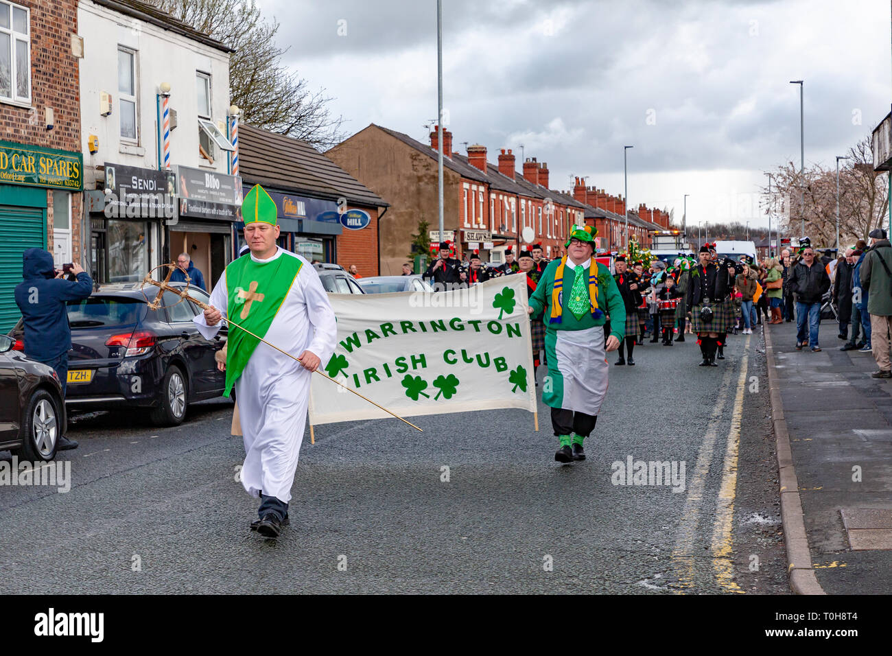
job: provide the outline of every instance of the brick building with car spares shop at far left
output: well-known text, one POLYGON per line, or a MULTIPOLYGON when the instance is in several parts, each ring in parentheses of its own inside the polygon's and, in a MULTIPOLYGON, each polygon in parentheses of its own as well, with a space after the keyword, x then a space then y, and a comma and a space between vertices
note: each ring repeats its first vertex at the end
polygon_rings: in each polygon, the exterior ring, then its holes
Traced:
POLYGON ((75 0, 0 0, 0 331, 20 312, 21 254, 82 262, 75 0))

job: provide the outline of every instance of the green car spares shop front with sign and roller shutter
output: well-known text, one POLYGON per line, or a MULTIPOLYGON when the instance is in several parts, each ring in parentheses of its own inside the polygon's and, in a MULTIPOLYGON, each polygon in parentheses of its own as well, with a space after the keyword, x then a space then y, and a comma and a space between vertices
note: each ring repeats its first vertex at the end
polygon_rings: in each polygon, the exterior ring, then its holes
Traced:
POLYGON ((79 153, 0 141, 0 332, 21 316, 13 297, 21 256, 47 247, 51 214, 54 260, 60 266, 72 261, 72 207, 79 207, 83 168, 79 153))

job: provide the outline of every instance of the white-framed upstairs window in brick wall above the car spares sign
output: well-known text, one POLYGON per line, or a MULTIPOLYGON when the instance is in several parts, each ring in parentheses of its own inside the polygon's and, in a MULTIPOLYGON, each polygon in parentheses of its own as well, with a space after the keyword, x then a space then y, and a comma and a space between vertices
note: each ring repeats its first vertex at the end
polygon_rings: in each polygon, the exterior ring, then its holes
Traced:
POLYGON ((30 13, 0 0, 0 100, 31 101, 30 13))

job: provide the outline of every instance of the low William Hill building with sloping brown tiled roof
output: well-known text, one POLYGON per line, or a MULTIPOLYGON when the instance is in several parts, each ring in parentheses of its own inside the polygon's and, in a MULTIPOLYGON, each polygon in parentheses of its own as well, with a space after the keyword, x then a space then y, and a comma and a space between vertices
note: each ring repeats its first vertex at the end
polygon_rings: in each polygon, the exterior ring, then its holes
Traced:
POLYGON ((310 261, 356 264, 361 276, 379 275, 383 198, 300 139, 243 125, 239 144, 245 192, 262 185, 278 207, 279 245, 310 261))

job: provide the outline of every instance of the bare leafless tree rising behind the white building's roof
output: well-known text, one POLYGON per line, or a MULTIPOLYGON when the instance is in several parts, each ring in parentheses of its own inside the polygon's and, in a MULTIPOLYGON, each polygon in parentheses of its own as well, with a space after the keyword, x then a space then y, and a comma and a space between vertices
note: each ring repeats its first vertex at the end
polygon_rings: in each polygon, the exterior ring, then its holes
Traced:
POLYGON ((260 15, 256 0, 149 0, 164 12, 233 48, 229 97, 241 120, 256 128, 306 141, 318 150, 343 141, 343 116, 328 110, 325 89, 282 62, 287 48, 276 45, 279 23, 260 15))

